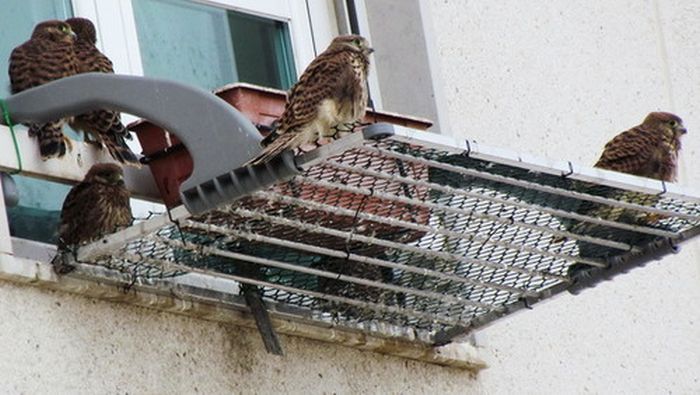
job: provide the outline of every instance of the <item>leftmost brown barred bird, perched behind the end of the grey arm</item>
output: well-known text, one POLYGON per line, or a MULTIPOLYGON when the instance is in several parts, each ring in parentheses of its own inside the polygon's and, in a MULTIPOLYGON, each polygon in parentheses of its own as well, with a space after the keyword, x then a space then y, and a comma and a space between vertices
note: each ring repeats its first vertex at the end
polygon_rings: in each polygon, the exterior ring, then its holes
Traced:
MULTIPOLYGON (((74 50, 75 33, 61 21, 51 20, 38 24, 31 38, 18 46, 10 55, 10 84, 12 93, 22 92, 53 80, 75 75, 78 61, 74 50)), ((45 124, 30 124, 29 135, 39 141, 41 158, 61 157, 70 140, 63 134, 59 119, 45 124)))

